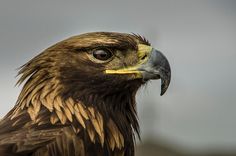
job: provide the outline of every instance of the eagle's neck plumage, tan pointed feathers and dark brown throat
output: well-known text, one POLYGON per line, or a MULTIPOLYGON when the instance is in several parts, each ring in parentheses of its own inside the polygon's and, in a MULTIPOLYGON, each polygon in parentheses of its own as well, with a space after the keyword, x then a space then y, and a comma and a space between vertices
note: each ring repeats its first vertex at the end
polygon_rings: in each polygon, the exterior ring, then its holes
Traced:
POLYGON ((24 85, 14 111, 14 119, 27 111, 34 124, 70 125, 90 141, 111 150, 133 149, 134 133, 139 134, 134 88, 116 93, 64 97, 56 78, 32 75, 24 85), (38 79, 37 79, 38 78, 38 79))

